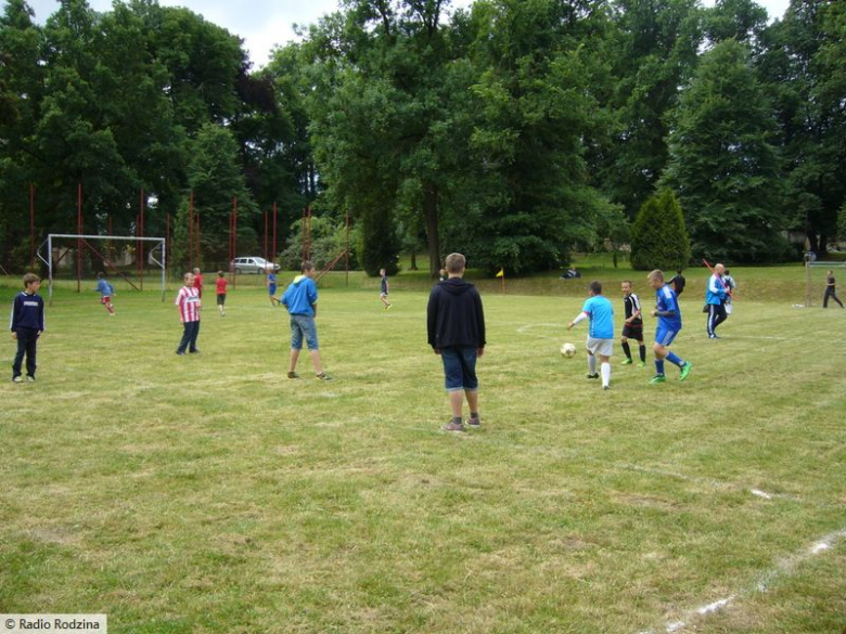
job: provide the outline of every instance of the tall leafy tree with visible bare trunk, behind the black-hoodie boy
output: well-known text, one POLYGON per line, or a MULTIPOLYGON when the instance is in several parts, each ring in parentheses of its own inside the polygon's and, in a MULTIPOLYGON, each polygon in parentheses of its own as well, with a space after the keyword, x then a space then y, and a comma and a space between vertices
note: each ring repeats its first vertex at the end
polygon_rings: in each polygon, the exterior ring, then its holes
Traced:
POLYGON ((368 270, 394 266, 397 214, 409 208, 423 218, 431 273, 440 268, 444 209, 465 173, 462 102, 473 81, 443 17, 430 0, 355 0, 306 46, 315 156, 329 198, 360 227, 368 270))

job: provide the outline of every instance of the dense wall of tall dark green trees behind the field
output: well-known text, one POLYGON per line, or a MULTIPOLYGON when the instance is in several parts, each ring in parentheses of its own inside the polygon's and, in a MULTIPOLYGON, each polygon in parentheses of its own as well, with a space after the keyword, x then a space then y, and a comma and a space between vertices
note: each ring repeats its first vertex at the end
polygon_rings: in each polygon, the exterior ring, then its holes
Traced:
POLYGON ((521 273, 618 249, 659 186, 694 256, 785 259, 789 231, 823 250, 846 203, 845 36, 834 0, 770 24, 752 0, 345 0, 256 72, 185 9, 66 0, 38 25, 7 0, 0 264, 29 261, 30 186, 40 242, 76 230, 80 185, 86 232, 136 232, 143 191, 144 233, 169 224, 182 259, 193 195, 214 267, 235 198, 240 255, 274 203, 280 245, 313 203, 349 215, 370 273, 401 249, 433 275, 452 250, 521 273))

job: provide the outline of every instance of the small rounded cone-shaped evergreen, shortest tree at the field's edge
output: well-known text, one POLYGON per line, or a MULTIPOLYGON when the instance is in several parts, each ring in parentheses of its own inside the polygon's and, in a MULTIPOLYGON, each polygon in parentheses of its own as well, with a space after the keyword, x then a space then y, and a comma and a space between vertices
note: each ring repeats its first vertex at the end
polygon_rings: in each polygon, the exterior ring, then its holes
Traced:
POLYGON ((637 271, 676 271, 690 262, 684 216, 670 190, 650 197, 631 227, 631 267, 637 271))

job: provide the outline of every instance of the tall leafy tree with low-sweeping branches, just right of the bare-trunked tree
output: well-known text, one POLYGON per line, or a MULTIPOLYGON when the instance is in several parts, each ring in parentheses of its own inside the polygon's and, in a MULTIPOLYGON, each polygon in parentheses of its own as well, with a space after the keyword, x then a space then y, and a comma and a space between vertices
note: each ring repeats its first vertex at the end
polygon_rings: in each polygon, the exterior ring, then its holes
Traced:
POLYGON ((604 3, 477 3, 473 26, 475 200, 451 242, 471 245, 474 266, 489 271, 548 269, 593 241, 606 205, 585 144, 604 122, 604 3))

